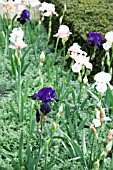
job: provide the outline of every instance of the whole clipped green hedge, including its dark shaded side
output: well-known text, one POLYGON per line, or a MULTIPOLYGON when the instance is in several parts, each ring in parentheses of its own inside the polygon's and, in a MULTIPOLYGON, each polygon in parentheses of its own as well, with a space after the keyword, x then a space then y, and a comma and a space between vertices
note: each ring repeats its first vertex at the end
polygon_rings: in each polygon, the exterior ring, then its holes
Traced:
MULTIPOLYGON (((44 0, 55 4, 56 12, 59 17, 62 15, 64 3, 67 5, 67 11, 63 19, 63 24, 69 26, 73 33, 67 43, 67 48, 74 42, 78 42, 82 49, 91 55, 93 47, 85 46, 88 41, 87 35, 90 32, 99 32, 104 35, 113 30, 113 1, 112 0, 44 0)), ((41 2, 44 2, 41 0, 41 2)), ((59 17, 53 17, 52 34, 58 31, 59 17)), ((100 71, 101 58, 104 51, 97 52, 94 59, 94 73, 100 71)))

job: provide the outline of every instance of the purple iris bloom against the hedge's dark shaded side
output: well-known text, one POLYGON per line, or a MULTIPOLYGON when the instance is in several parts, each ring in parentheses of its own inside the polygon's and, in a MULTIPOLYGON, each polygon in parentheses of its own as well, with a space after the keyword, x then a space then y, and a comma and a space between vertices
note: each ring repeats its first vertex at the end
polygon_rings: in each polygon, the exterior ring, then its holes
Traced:
POLYGON ((88 44, 92 43, 92 44, 95 44, 99 49, 102 48, 102 45, 101 45, 102 34, 96 33, 96 32, 91 32, 90 34, 88 34, 88 38, 90 39, 88 44))

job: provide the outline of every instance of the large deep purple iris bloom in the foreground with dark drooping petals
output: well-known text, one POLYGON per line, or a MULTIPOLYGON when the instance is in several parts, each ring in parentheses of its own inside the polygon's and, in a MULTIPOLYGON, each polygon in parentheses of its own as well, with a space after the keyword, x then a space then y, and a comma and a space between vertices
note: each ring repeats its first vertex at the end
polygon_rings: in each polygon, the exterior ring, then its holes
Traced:
POLYGON ((47 115, 51 111, 50 102, 59 100, 56 99, 56 92, 51 87, 43 87, 38 93, 29 96, 32 100, 40 100, 42 103, 40 105, 40 112, 43 115, 47 115))

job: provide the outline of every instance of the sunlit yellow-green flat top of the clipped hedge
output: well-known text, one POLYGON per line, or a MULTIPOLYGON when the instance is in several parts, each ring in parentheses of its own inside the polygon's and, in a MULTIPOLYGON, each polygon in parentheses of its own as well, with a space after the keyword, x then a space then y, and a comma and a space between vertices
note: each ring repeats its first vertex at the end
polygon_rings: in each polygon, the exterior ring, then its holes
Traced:
MULTIPOLYGON (((113 30, 112 0, 46 1, 55 4, 59 16, 62 14, 64 3, 66 3, 67 11, 63 23, 70 27, 73 36, 80 35, 86 39, 86 35, 91 31, 100 32, 105 35, 106 32, 113 30)), ((56 26, 54 25, 54 27, 56 26)))

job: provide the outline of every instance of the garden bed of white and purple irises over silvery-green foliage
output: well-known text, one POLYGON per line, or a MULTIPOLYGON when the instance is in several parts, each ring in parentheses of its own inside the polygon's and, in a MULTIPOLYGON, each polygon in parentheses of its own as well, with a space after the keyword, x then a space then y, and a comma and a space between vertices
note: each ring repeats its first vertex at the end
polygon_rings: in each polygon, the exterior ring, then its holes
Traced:
POLYGON ((88 56, 78 42, 67 49, 73 32, 63 24, 66 9, 55 35, 55 6, 40 10, 39 21, 30 19, 28 8, 12 20, 7 13, 0 18, 0 169, 112 170, 113 32, 105 36, 107 49, 100 34, 89 35, 105 53, 95 75, 96 50, 88 56))

